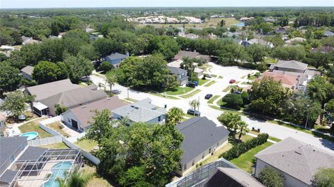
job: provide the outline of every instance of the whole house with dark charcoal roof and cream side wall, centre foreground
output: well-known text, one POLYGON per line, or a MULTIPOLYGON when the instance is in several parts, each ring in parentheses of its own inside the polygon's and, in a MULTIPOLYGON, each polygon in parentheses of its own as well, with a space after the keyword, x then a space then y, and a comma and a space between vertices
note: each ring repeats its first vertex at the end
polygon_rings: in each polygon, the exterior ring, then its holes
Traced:
POLYGON ((175 171, 183 175, 196 167, 196 163, 205 160, 216 149, 228 143, 230 131, 225 127, 217 127, 207 117, 193 117, 177 124, 177 129, 183 134, 183 156, 180 170, 175 171))

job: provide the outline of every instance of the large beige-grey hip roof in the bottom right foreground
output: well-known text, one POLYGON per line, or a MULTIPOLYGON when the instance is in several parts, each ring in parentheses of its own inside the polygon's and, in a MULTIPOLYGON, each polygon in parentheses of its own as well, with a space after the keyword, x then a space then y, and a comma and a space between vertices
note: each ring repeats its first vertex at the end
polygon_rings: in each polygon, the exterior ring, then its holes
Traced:
POLYGON ((286 138, 255 155, 257 159, 311 184, 312 176, 319 168, 333 168, 334 155, 294 138, 286 138))

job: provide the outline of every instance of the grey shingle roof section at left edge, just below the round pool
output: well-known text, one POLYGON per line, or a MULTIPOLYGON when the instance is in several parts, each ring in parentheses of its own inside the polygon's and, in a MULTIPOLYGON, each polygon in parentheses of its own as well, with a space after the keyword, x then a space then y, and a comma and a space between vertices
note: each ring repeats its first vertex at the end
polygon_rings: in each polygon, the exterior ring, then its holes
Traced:
POLYGON ((26 143, 26 136, 0 138, 0 166, 26 143))

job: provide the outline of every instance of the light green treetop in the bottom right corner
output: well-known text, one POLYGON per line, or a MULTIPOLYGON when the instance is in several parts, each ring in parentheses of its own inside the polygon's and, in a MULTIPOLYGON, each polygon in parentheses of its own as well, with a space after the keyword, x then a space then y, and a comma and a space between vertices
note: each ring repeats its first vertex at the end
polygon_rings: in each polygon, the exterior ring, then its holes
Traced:
POLYGON ((312 186, 316 187, 333 187, 334 186, 334 169, 320 168, 313 176, 312 186))

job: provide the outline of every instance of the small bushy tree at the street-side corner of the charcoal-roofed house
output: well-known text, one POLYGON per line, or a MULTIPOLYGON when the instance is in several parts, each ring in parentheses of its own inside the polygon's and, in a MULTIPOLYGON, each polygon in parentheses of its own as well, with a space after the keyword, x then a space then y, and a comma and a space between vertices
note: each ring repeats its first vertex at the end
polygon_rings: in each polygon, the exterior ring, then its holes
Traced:
POLYGON ((241 117, 237 113, 226 112, 219 115, 217 120, 229 131, 235 134, 238 129, 238 124, 241 121, 241 117))

